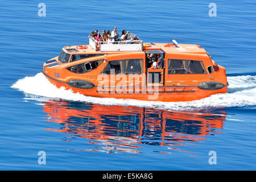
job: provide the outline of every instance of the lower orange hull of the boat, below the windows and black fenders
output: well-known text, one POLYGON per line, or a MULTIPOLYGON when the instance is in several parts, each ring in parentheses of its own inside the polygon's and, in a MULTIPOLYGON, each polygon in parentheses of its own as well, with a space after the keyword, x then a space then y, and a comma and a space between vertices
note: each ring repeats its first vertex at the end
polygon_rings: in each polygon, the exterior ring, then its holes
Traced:
POLYGON ((141 101, 162 101, 162 102, 178 102, 178 101, 194 101, 209 97, 212 94, 226 93, 228 85, 224 85, 220 89, 205 90, 200 89, 198 85, 179 85, 179 86, 125 86, 110 87, 94 86, 93 88, 81 89, 75 88, 69 82, 60 81, 47 76, 46 78, 57 88, 64 87, 66 90, 72 90, 73 93, 84 94, 91 97, 102 98, 118 98, 133 99, 141 101))

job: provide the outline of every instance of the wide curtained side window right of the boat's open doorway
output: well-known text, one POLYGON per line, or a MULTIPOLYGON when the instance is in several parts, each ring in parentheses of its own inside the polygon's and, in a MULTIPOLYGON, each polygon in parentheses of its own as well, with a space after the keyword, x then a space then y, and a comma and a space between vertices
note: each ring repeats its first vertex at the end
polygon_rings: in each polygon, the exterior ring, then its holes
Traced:
POLYGON ((203 61, 168 59, 168 74, 206 74, 203 61))

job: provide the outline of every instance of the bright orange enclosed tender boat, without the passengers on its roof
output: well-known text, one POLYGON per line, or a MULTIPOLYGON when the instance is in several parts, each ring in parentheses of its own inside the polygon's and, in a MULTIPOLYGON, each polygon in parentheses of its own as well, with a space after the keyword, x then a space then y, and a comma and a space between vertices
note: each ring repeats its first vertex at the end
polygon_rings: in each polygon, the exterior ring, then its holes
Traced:
POLYGON ((89 45, 62 48, 44 63, 43 73, 57 88, 93 97, 172 102, 227 92, 225 68, 204 48, 172 42, 104 44, 89 38, 89 45))

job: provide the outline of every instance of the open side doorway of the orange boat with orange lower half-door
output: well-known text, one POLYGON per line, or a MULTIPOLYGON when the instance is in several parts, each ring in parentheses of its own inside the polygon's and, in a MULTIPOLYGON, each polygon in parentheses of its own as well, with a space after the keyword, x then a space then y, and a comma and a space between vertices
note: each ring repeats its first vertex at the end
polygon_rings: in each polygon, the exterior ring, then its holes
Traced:
MULTIPOLYGON (((161 65, 159 65, 161 66, 161 65)), ((164 85, 164 52, 162 50, 150 50, 146 52, 146 71, 147 71, 147 86, 162 86, 164 85), (160 56, 160 57, 159 57, 160 56), (152 59, 155 61, 162 60, 162 67, 153 69, 152 59)))

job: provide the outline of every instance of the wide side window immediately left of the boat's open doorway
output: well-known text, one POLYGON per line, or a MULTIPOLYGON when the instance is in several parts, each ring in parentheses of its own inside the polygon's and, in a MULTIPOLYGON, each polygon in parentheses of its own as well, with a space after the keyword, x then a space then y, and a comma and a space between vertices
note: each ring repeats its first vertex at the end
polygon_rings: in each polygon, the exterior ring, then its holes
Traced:
POLYGON ((114 74, 142 73, 143 59, 124 59, 109 61, 104 68, 103 73, 110 75, 111 69, 114 69, 114 74))

